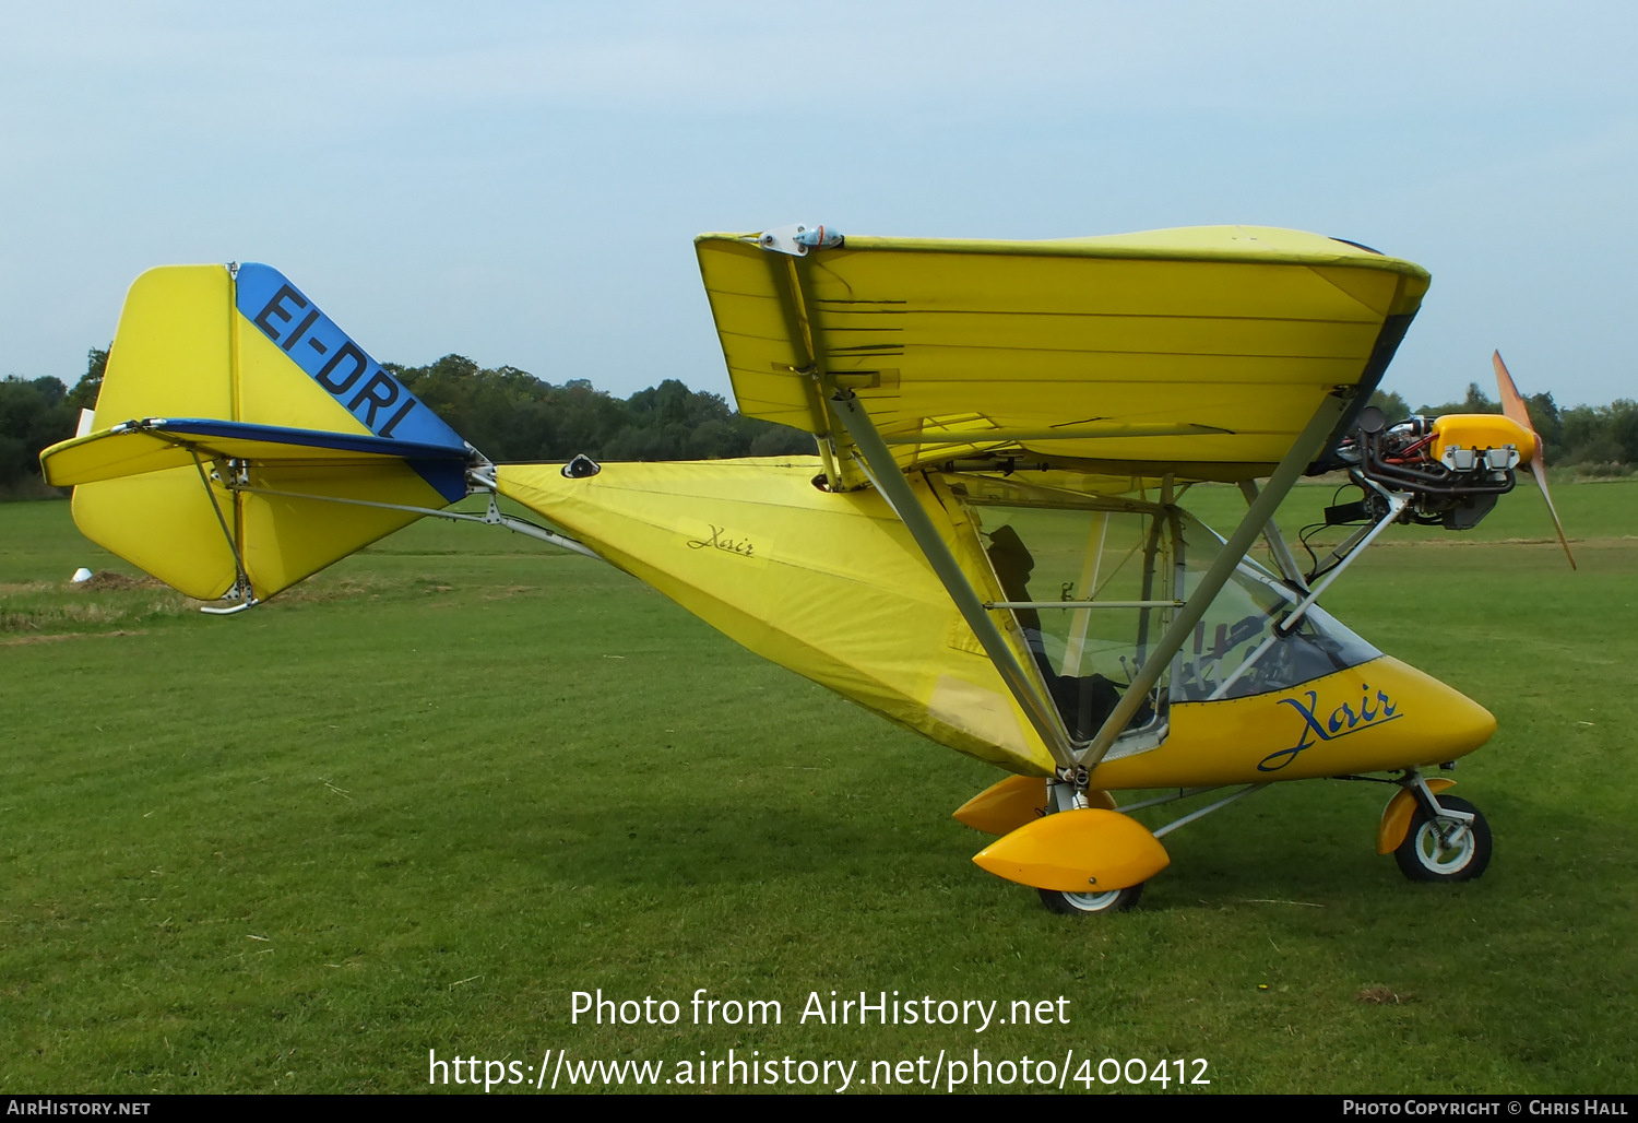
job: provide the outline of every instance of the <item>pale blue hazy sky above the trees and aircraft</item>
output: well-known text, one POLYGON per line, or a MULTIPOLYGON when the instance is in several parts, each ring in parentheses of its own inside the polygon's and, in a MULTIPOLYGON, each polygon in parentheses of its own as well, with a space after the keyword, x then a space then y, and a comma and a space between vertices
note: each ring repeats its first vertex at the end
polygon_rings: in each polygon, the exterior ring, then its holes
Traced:
POLYGON ((1433 274, 1386 389, 1638 397, 1638 5, 0 0, 0 374, 264 261, 375 357, 729 392, 691 238, 1294 226, 1433 274))

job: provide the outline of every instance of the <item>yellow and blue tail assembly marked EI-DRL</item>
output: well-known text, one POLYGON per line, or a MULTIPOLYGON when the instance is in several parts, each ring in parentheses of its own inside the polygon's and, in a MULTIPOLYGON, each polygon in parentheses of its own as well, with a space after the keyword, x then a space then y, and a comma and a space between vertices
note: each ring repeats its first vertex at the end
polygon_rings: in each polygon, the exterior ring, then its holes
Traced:
POLYGON ((192 597, 246 605, 462 498, 477 459, 257 264, 138 277, 90 428, 41 452, 80 531, 192 597))

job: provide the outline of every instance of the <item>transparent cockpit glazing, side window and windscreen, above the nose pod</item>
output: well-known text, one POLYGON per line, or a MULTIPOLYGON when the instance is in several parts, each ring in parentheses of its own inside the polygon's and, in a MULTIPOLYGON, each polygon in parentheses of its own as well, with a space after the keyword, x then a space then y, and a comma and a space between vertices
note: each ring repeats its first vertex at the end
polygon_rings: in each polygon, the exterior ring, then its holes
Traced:
MULTIPOLYGON (((988 475, 945 482, 983 546, 988 605, 1009 610, 1014 644, 1070 736, 1091 739, 1224 539, 1176 505, 988 475)), ((1158 744, 1173 703, 1284 690, 1381 654, 1317 607, 1286 628, 1302 597, 1242 561, 1137 707, 1125 751, 1158 744)))

